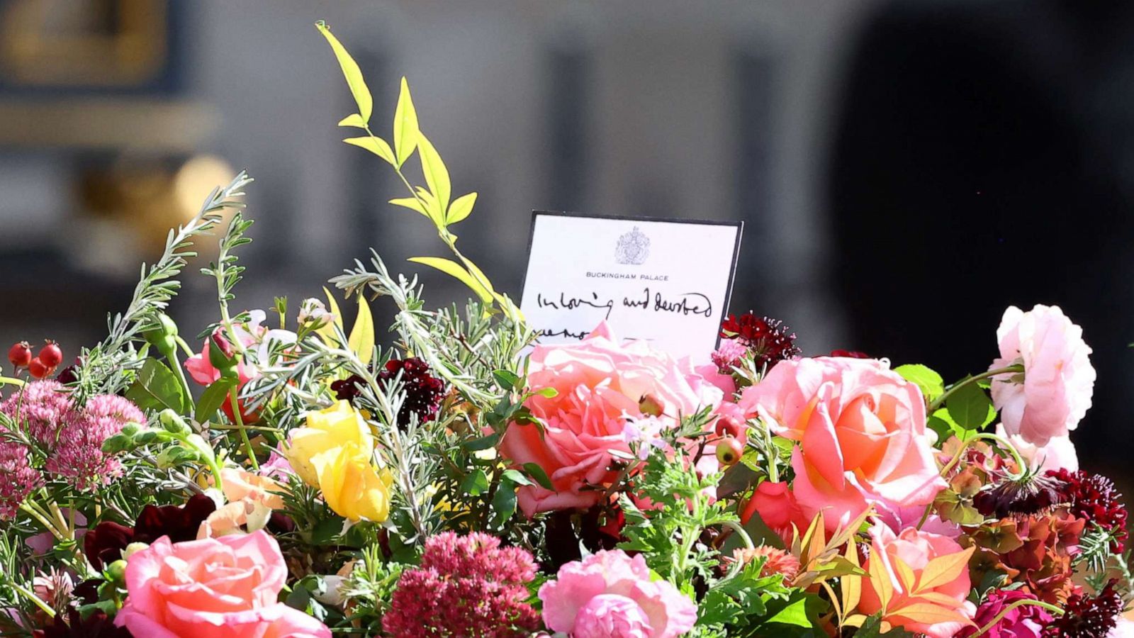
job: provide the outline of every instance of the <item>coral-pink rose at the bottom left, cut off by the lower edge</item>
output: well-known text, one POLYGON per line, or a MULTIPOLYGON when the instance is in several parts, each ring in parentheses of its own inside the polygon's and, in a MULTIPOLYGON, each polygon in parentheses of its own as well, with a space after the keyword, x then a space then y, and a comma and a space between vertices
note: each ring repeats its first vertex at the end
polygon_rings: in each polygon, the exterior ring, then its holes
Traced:
POLYGON ((323 623, 277 602, 287 573, 263 531, 186 543, 163 536, 127 561, 128 596, 115 624, 146 638, 330 638, 323 623))

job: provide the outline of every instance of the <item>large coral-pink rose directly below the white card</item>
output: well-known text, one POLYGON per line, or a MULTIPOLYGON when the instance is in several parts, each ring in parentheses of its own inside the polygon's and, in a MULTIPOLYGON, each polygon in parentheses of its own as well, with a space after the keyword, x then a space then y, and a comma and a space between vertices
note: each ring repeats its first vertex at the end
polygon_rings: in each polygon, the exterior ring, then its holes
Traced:
MULTIPOLYGON (((517 465, 536 463, 555 487, 519 489, 519 506, 528 517, 599 502, 601 488, 617 477, 610 469, 611 451, 629 451, 623 433, 627 419, 650 415, 640 406, 643 398, 668 427, 721 401, 720 389, 692 369, 646 342, 621 345, 606 324, 578 344, 535 346, 527 378, 533 391, 557 392, 525 403, 545 423, 542 431, 510 423, 500 442, 503 456, 517 465)), ((705 456, 714 460, 711 452, 705 456)))

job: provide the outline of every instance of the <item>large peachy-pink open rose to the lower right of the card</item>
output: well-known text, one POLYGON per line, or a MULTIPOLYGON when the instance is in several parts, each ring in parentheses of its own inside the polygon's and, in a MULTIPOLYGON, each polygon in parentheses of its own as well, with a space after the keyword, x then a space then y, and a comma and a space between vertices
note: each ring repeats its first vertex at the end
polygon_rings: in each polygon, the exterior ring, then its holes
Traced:
POLYGON ((924 506, 946 487, 925 429, 917 386, 873 359, 780 361, 739 404, 795 440, 795 498, 828 529, 874 503, 924 506))

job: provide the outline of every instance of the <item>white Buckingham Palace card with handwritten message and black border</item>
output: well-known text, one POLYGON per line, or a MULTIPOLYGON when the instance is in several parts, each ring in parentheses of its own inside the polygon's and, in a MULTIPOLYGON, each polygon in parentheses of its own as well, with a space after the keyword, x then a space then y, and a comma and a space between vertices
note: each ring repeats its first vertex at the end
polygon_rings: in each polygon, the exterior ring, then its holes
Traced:
POLYGON ((521 310, 540 343, 578 342, 606 320, 620 338, 706 362, 743 227, 535 211, 521 310))

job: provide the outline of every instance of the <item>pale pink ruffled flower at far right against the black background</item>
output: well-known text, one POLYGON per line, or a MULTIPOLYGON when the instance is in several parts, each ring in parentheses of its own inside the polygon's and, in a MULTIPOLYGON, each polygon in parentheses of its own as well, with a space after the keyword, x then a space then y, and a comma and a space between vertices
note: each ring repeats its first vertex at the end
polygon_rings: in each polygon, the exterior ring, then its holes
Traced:
POLYGON ((996 331, 1000 358, 989 370, 1023 364, 1024 372, 992 378, 992 403, 1009 434, 1044 446, 1067 436, 1091 408, 1094 368, 1083 328, 1070 322, 1058 305, 1036 305, 1024 312, 1004 311, 996 331))

